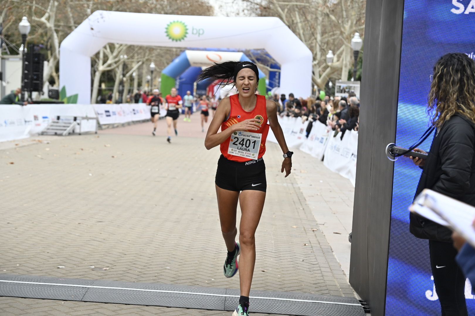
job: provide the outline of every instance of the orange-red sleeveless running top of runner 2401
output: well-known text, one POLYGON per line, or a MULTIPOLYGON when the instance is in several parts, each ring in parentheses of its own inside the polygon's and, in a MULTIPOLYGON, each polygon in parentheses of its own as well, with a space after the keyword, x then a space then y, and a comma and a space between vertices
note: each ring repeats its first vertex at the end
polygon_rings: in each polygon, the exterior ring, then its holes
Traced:
MULTIPOLYGON (((256 107, 250 111, 245 111, 241 104, 239 103, 239 95, 234 94, 229 97, 229 102, 231 103, 231 111, 229 113, 229 117, 226 121, 221 124, 221 131, 226 130, 228 127, 242 122, 249 118, 257 118, 260 120, 258 122, 260 124, 260 128, 257 131, 249 131, 252 133, 262 134, 261 136, 261 144, 259 148, 259 153, 257 159, 262 158, 264 153, 266 152, 266 138, 267 133, 269 132, 269 124, 267 124, 267 108, 266 108, 266 97, 263 95, 256 95, 256 107)), ((243 131, 245 132, 245 131, 243 131)), ((227 140, 225 140, 219 147, 221 149, 221 153, 225 158, 228 160, 244 163, 253 159, 249 159, 246 157, 236 156, 228 153, 228 148, 230 146, 230 142, 232 141, 233 135, 229 136, 227 140)))

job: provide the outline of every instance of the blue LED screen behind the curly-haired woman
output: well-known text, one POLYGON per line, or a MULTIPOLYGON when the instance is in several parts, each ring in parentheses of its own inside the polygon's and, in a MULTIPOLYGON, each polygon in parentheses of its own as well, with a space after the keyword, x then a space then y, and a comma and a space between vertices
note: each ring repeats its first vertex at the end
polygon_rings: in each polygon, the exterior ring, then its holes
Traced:
MULTIPOLYGON (((406 0, 396 131, 399 146, 409 147, 427 130, 429 76, 437 59, 452 52, 475 58, 475 0, 406 0)), ((429 136, 420 148, 428 151, 432 138, 433 135, 429 136)), ((430 271, 428 242, 409 233, 408 208, 420 173, 409 158, 400 158, 394 164, 387 316, 441 315, 430 271)), ((475 315, 471 292, 467 281, 468 314, 475 315)))

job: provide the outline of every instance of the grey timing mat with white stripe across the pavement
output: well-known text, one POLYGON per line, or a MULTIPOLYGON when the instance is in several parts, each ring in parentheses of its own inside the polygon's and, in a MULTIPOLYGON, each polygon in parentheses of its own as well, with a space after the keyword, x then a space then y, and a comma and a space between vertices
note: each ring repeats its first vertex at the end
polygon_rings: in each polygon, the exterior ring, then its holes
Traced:
MULTIPOLYGON (((0 296, 233 311, 239 290, 0 274, 0 296)), ((356 298, 251 291, 253 313, 364 316, 356 298)))

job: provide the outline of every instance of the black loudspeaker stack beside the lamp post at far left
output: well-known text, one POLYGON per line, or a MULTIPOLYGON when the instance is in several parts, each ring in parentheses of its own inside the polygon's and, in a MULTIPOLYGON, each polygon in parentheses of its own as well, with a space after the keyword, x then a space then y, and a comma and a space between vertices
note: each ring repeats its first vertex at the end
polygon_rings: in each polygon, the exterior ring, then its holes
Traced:
POLYGON ((23 61, 25 63, 25 72, 23 73, 25 90, 29 92, 43 91, 43 63, 45 56, 39 53, 39 47, 30 44, 28 53, 23 56, 23 61))

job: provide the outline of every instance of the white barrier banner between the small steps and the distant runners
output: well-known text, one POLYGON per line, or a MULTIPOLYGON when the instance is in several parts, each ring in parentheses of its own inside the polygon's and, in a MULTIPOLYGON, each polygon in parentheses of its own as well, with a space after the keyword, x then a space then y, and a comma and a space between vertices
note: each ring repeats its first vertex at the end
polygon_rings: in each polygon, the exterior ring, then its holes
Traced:
MULTIPOLYGON (((131 104, 93 104, 97 113, 99 124, 123 124, 134 121, 141 121, 150 119, 150 106, 145 103, 131 103, 131 104)), ((160 116, 165 116, 163 111, 160 111, 160 116)))

